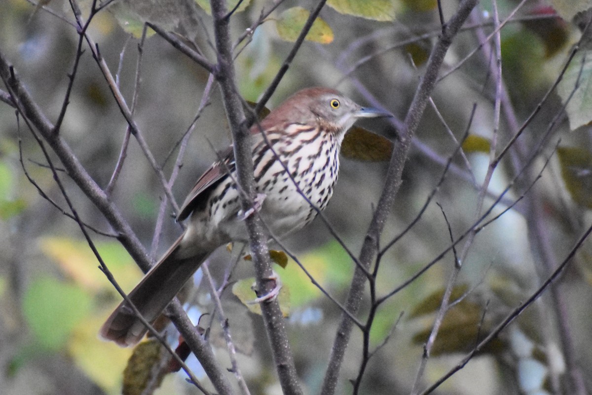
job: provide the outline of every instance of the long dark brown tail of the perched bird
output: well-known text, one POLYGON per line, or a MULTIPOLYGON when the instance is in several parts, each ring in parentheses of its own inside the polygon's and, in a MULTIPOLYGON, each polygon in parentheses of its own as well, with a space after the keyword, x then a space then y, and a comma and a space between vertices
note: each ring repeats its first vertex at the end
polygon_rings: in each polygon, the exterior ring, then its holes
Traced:
MULTIPOLYGON (((146 273, 128 297, 147 322, 153 323, 166 306, 191 278, 211 251, 198 252, 191 258, 179 258, 181 239, 146 273)), ((101 337, 127 347, 139 342, 146 334, 146 326, 124 300, 111 313, 99 332, 101 337)))

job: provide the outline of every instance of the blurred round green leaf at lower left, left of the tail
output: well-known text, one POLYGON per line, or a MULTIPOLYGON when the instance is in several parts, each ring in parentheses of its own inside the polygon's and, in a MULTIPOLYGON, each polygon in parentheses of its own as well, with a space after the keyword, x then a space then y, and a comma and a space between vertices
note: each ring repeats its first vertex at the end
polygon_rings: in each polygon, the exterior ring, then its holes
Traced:
POLYGON ((22 310, 37 342, 58 351, 65 347, 72 329, 92 309, 92 297, 77 285, 51 277, 32 281, 25 292, 22 310))

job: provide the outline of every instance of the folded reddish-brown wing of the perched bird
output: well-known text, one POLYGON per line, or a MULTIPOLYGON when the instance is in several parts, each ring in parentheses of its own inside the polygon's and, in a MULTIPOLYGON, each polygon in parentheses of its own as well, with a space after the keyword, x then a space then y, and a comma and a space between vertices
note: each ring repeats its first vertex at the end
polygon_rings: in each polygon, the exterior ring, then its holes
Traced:
POLYGON ((221 159, 214 162, 200 179, 195 183, 195 187, 189 192, 185 201, 181 205, 181 210, 177 215, 177 221, 185 220, 189 217, 195 208, 204 204, 210 196, 210 192, 218 185, 221 179, 234 169, 234 152, 232 146, 220 153, 221 159))

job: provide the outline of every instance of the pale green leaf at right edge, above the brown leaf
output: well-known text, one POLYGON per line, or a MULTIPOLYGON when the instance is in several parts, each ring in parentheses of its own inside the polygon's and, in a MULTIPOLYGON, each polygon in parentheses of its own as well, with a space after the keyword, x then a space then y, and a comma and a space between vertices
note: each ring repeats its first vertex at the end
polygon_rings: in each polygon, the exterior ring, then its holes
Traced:
POLYGON ((574 94, 565 110, 570 119, 571 130, 574 130, 592 121, 592 111, 590 111, 592 108, 592 52, 590 51, 575 54, 565 70, 563 79, 557 85, 557 93, 564 104, 572 92, 574 94))

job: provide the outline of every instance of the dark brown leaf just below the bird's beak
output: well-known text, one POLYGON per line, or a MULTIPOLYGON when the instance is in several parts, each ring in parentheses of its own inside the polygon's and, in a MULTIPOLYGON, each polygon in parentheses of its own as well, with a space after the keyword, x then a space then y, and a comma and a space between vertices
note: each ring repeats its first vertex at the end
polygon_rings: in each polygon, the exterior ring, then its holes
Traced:
POLYGON ((343 138, 341 153, 349 159, 381 162, 391 159, 392 145, 391 140, 354 126, 343 138))

